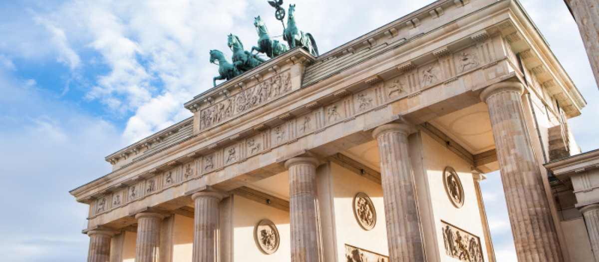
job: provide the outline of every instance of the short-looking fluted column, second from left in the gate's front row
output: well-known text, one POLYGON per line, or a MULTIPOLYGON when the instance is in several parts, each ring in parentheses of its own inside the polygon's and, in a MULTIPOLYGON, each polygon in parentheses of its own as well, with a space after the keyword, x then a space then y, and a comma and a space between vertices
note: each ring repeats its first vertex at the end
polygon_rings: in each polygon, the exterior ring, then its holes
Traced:
POLYGON ((164 215, 144 212, 135 215, 137 219, 137 242, 135 262, 160 261, 160 223, 164 215))

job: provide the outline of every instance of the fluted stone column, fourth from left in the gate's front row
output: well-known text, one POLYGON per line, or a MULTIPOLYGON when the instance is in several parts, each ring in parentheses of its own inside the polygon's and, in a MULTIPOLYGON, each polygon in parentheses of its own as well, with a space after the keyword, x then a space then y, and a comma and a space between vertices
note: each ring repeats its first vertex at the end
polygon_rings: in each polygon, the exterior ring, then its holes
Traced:
POLYGON ((291 262, 322 261, 313 157, 295 157, 285 162, 289 169, 289 216, 291 218, 291 262))

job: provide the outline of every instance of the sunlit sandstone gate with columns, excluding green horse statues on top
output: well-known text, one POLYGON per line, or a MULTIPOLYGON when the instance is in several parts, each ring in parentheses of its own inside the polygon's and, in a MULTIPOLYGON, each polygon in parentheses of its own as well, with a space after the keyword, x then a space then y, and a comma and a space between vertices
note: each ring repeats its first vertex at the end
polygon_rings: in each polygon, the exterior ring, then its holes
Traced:
POLYGON ((437 1, 190 99, 71 191, 88 261, 492 262, 495 170, 519 261, 594 259, 599 209, 564 216, 543 167, 586 103, 516 1, 437 1))

